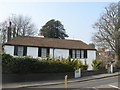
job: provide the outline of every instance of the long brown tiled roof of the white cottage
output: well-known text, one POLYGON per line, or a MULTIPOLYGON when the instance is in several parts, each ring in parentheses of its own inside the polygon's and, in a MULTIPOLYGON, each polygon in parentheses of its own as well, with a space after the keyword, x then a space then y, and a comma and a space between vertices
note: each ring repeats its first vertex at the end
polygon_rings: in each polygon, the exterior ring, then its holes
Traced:
POLYGON ((65 49, 91 49, 95 48, 87 45, 80 40, 56 39, 56 38, 42 38, 20 36, 13 38, 5 43, 5 45, 24 45, 24 46, 37 46, 37 47, 52 47, 52 48, 65 48, 65 49))

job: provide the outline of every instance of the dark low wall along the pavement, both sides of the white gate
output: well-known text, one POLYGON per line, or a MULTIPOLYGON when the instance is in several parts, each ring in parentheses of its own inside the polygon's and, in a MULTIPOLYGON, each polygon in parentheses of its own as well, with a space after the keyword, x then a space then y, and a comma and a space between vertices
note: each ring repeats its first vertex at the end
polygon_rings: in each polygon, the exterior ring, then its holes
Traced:
MULTIPOLYGON (((82 71, 82 77, 107 73, 104 71, 82 71)), ((68 75, 68 79, 74 78, 74 72, 66 73, 38 73, 38 74, 2 74, 2 83, 12 82, 30 82, 30 81, 47 81, 47 80, 60 80, 64 79, 64 76, 68 75)))

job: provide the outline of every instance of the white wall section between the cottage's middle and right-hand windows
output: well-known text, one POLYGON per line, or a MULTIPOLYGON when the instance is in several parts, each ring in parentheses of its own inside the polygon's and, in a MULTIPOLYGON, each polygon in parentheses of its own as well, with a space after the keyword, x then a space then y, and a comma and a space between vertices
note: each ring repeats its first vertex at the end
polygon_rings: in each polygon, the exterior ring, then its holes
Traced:
MULTIPOLYGON (((69 49, 54 49, 55 58, 68 58, 69 49)), ((50 57, 53 57, 53 48, 50 48, 50 57)))

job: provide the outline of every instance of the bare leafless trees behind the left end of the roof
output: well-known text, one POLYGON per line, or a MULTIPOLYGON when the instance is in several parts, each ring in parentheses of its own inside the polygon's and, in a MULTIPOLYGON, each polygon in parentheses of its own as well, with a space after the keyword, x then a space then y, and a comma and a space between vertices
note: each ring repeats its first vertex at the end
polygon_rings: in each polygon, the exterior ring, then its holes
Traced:
POLYGON ((12 15, 6 21, 0 24, 1 42, 7 41, 8 23, 11 22, 11 37, 17 36, 34 36, 36 34, 35 25, 32 23, 31 18, 22 15, 12 15))

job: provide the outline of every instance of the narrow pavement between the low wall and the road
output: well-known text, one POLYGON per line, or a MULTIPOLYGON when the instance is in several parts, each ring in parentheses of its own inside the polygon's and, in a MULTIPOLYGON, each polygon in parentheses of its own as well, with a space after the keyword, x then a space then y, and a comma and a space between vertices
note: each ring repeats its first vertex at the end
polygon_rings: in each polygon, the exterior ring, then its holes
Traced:
MULTIPOLYGON (((80 78, 72 78, 72 79, 68 79, 68 83, 84 82, 84 81, 102 79, 102 78, 107 78, 107 77, 114 77, 114 76, 119 76, 119 75, 120 75, 119 72, 115 72, 115 73, 109 73, 109 74, 99 74, 99 75, 86 76, 86 77, 80 77, 80 78)), ((64 84, 64 78, 63 80, 2 84, 2 88, 24 88, 24 87, 49 86, 49 85, 58 85, 58 84, 64 84)))

